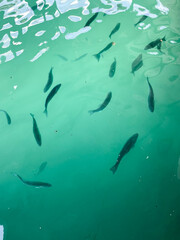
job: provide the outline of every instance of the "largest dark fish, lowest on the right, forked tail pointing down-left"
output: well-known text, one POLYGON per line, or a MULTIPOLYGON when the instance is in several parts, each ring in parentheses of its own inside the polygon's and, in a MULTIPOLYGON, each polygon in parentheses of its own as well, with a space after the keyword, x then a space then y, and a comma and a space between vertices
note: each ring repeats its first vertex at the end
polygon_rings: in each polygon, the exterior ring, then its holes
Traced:
POLYGON ((131 148, 134 147, 138 136, 139 136, 139 134, 135 133, 124 144, 122 150, 120 151, 120 153, 118 155, 118 158, 117 158, 117 161, 116 161, 115 165, 110 168, 110 170, 113 172, 113 174, 115 174, 115 172, 117 171, 117 168, 119 166, 119 163, 120 163, 121 159, 131 150, 131 148))

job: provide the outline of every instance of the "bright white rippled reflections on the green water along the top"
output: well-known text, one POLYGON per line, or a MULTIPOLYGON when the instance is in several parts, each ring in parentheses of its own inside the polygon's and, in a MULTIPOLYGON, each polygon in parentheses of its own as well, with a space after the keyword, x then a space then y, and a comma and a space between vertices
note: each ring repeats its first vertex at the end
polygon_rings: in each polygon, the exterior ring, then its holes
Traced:
MULTIPOLYGON (((155 8, 158 9, 162 14, 168 14, 169 9, 163 6, 160 0, 156 1, 157 4, 155 5, 155 8)), ((130 8, 133 9, 133 12, 137 13, 137 16, 145 15, 152 19, 158 17, 155 12, 150 12, 146 7, 133 3, 132 0, 101 0, 101 4, 97 1, 93 3, 93 7, 91 7, 90 1, 88 0, 39 0, 35 5, 33 5, 30 1, 28 2, 24 0, 2 0, 0 2, 0 12, 3 18, 0 27, 0 31, 2 32, 2 37, 0 40, 0 46, 2 48, 0 52, 0 63, 8 62, 17 56, 20 56, 24 52, 23 35, 25 35, 28 30, 34 26, 39 25, 39 30, 37 30, 35 37, 40 37, 45 33, 45 30, 41 29, 41 25, 45 22, 53 21, 54 29, 55 24, 59 30, 55 31, 54 35, 51 36, 49 40, 54 41, 59 37, 63 37, 67 40, 72 40, 78 37, 80 34, 86 34, 91 30, 91 27, 83 28, 82 24, 82 27, 79 29, 76 28, 76 31, 69 32, 69 25, 59 26, 56 19, 65 18, 66 22, 69 20, 72 22, 72 24, 77 24, 81 21, 84 22, 84 19, 87 21, 87 15, 91 16, 91 14, 95 12, 114 15, 127 11, 130 8), (97 6, 95 6, 95 4, 97 6), (79 10, 81 11, 81 15, 79 14, 79 10), (77 15, 72 15, 71 11, 77 11, 77 15), (66 12, 69 12, 68 15, 63 16, 66 12), (13 39, 16 39, 16 41, 13 41, 13 39), (13 48, 13 50, 11 50, 11 45, 21 45, 21 49, 18 48, 16 51, 16 48, 13 48)), ((103 14, 99 15, 99 17, 96 19, 96 22, 101 23, 103 21, 103 17, 103 14)), ((140 23, 138 29, 147 30, 150 27, 151 24, 147 21, 147 24, 144 22, 140 23)), ((165 26, 160 26, 160 29, 163 28, 165 28, 165 26)), ((45 43, 48 44, 46 40, 47 39, 45 39, 44 42, 41 42, 39 44, 39 47, 45 43)), ((171 43, 174 42, 171 41, 171 43)), ((49 46, 40 49, 37 51, 33 59, 29 60, 37 60, 48 49, 49 46)))

